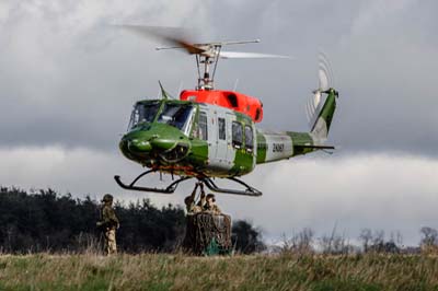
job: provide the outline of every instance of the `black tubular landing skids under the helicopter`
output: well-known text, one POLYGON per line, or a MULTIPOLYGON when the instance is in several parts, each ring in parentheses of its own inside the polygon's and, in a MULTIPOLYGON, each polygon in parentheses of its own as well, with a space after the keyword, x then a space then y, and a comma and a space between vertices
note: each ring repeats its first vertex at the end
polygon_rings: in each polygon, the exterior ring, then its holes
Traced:
MULTIPOLYGON (((124 184, 120 179, 120 176, 114 176, 114 179, 116 181, 118 186, 120 186, 122 188, 127 189, 127 190, 173 194, 176 190, 176 188, 181 182, 193 178, 191 176, 181 177, 181 178, 176 179, 175 182, 173 182, 172 184, 170 184, 166 188, 151 188, 151 187, 145 187, 145 186, 136 186, 136 183, 140 178, 142 178, 143 176, 146 176, 148 174, 155 173, 155 172, 158 172, 158 170, 146 171, 146 172, 141 173, 140 175, 138 175, 129 185, 124 184)), ((216 185, 216 183, 210 177, 200 176, 200 177, 197 177, 197 179, 203 182, 212 191, 234 194, 234 195, 244 195, 244 196, 262 196, 262 191, 257 190, 254 187, 251 187, 243 181, 240 181, 235 177, 229 177, 227 179, 235 182, 235 183, 244 186, 246 189, 237 190, 237 189, 220 188, 216 185)))

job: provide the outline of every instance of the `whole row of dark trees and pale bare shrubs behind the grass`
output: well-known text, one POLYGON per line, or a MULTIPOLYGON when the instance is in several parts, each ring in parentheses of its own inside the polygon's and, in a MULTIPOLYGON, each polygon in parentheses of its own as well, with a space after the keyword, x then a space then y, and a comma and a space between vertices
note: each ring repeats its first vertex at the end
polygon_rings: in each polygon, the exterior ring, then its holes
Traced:
MULTIPOLYGON (((126 253, 174 252, 185 235, 185 212, 180 206, 155 207, 149 199, 124 205, 116 201, 120 220, 117 232, 118 248, 126 253)), ((100 248, 103 237, 95 222, 100 202, 87 196, 73 198, 53 189, 27 193, 18 188, 0 187, 0 253, 84 252, 100 248)), ((418 253, 438 252, 438 231, 429 226, 419 230, 418 246, 406 247, 400 232, 385 235, 383 231, 362 229, 358 245, 333 231, 315 237, 304 228, 269 252, 349 253, 418 253)), ((239 253, 251 254, 266 249, 261 230, 244 220, 233 221, 232 243, 239 253)))

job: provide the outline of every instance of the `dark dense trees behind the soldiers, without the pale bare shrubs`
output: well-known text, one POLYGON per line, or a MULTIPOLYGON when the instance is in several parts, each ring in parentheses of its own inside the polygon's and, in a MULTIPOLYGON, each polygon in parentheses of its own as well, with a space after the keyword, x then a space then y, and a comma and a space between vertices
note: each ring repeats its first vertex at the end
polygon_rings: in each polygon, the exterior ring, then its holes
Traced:
MULTIPOLYGON (((126 253, 174 252, 185 234, 185 212, 180 206, 155 207, 149 199, 114 205, 120 221, 118 249, 126 253)), ((0 252, 84 252, 103 244, 96 229, 100 202, 73 198, 53 189, 27 193, 0 188, 0 252)), ((247 221, 235 221, 232 241, 237 252, 265 248, 262 233, 247 221)))

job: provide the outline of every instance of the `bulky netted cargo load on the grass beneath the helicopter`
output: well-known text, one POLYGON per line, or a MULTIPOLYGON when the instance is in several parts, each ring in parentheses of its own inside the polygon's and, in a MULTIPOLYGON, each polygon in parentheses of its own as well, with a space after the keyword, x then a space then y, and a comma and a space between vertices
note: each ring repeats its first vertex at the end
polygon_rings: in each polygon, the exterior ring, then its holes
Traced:
POLYGON ((183 247, 194 255, 226 255, 232 249, 231 218, 199 212, 187 216, 183 247))

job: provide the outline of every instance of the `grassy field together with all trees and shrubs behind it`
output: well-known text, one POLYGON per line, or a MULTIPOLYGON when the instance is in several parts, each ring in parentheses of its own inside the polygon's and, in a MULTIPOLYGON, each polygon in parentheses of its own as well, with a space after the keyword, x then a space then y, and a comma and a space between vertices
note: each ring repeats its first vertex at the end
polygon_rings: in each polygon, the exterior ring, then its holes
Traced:
MULTIPOLYGON (((335 234, 322 237, 323 252, 315 254, 314 233, 303 229, 285 237, 277 255, 194 257, 175 253, 185 230, 180 207, 143 200, 117 203, 116 211, 123 254, 104 257, 96 251, 96 201, 0 188, 0 290, 438 291, 438 232, 431 228, 422 228, 415 255, 371 230, 360 235, 364 254, 353 254, 335 234)), ((232 240, 239 254, 265 249, 260 230, 245 221, 233 223, 232 240)))

